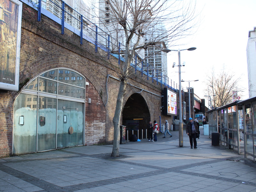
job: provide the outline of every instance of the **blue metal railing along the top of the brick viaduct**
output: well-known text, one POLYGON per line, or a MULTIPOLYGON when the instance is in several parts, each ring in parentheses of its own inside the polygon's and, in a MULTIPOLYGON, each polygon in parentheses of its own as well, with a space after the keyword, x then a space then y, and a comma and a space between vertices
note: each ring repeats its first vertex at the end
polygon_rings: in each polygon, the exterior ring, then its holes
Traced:
MULTIPOLYGON (((22 0, 22 1, 26 1, 26 0, 22 0)), ((33 0, 33 1, 35 1, 35 0, 33 0)), ((82 14, 80 14, 79 12, 74 10, 72 7, 68 6, 64 1, 60 0, 61 1, 61 7, 58 4, 55 4, 52 0, 47 0, 47 1, 51 2, 53 5, 58 7, 60 12, 61 12, 61 18, 59 17, 61 19, 61 34, 64 34, 65 13, 66 13, 67 14, 66 18, 69 15, 70 17, 73 18, 73 20, 75 20, 75 22, 80 23, 80 25, 79 25, 80 29, 73 26, 77 30, 80 30, 79 34, 78 34, 78 35, 80 35, 80 44, 83 44, 83 39, 86 39, 87 41, 89 41, 89 42, 91 42, 95 45, 95 52, 98 52, 98 48, 101 48, 102 50, 104 50, 108 53, 108 59, 109 59, 109 56, 111 54, 111 55, 115 56, 118 59, 118 64, 120 65, 121 60, 123 60, 123 58, 120 57, 120 53, 124 52, 124 50, 122 50, 121 47, 125 47, 123 44, 118 42, 117 51, 118 51, 119 54, 110 53, 110 43, 111 43, 110 38, 117 42, 116 39, 114 39, 111 35, 104 32, 102 29, 100 29, 96 24, 92 23, 86 17, 83 17, 82 14), (79 17, 77 18, 73 14, 67 12, 65 10, 65 7, 69 7, 72 10, 73 13, 74 12, 77 13, 77 15, 79 15, 80 19, 79 19, 79 17), (91 26, 86 25, 86 23, 91 23, 91 26), (84 33, 83 33, 84 28, 86 28, 87 30, 90 31, 89 36, 84 35, 84 33), (99 30, 101 31, 100 33, 99 33, 99 30), (92 34, 95 34, 95 36, 93 36, 92 34), (102 38, 102 40, 100 40, 99 37, 102 38), (94 38, 94 40, 93 40, 93 38, 94 38), (106 42, 106 45, 102 44, 103 42, 106 42)), ((24 3, 29 4, 28 2, 24 2, 24 3)), ((36 3, 34 6, 37 7, 37 10, 38 10, 37 20, 41 21, 41 14, 42 14, 41 10, 44 9, 44 8, 42 8, 42 0, 38 0, 38 3, 36 3)), ((112 46, 115 47, 113 44, 112 44, 112 46)), ((144 60, 139 61, 139 63, 141 63, 141 67, 138 66, 138 58, 140 58, 138 56, 138 54, 135 54, 134 55, 135 64, 132 64, 132 63, 130 64, 135 69, 135 73, 138 70, 138 71, 141 72, 141 76, 144 76, 144 75, 147 76, 147 80, 149 80, 149 77, 151 77, 153 83, 154 83, 154 80, 155 80, 156 84, 158 84, 158 83, 161 84, 161 87, 164 85, 164 87, 168 87, 172 90, 175 90, 175 82, 174 81, 173 81, 173 87, 172 87, 172 80, 171 80, 171 83, 170 83, 168 76, 163 75, 162 71, 159 71, 158 69, 154 68, 154 66, 150 65, 148 62, 145 62, 144 60), (143 65, 146 66, 146 67, 143 68, 143 65), (149 68, 150 68, 150 71, 152 72, 151 74, 149 74, 149 68), (158 76, 159 74, 161 74, 161 75, 158 76), (156 76, 154 76, 154 75, 156 75, 156 76), (164 78, 164 81, 163 81, 163 78, 164 78)), ((177 89, 177 84, 176 84, 176 89, 177 89)))

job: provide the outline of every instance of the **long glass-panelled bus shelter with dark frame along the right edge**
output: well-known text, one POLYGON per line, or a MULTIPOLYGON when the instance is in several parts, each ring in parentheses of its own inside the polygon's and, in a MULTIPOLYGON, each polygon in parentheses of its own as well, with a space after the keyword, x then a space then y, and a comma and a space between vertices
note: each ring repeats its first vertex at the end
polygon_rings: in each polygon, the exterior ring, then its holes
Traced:
POLYGON ((220 134, 220 145, 256 157, 256 97, 235 101, 208 112, 209 137, 220 134))

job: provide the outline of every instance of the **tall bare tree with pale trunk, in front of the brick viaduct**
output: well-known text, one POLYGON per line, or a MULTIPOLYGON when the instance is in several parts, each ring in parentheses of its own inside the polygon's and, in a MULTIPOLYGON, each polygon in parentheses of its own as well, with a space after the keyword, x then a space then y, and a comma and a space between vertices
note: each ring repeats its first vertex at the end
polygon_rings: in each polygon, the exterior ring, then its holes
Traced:
MULTIPOLYGON (((191 34, 195 27, 195 4, 178 0, 100 0, 98 15, 100 46, 106 46, 111 54, 121 57, 119 65, 109 60, 116 72, 119 91, 116 99, 116 110, 113 118, 114 140, 112 155, 119 156, 120 118, 126 85, 136 73, 131 69, 134 55, 140 63, 145 60, 145 50, 160 47, 161 52, 175 44, 176 40, 191 34), (105 33, 106 31, 107 33, 105 33), (111 34, 109 38, 106 34, 111 34), (109 39, 111 43, 106 43, 109 39), (109 46, 108 46, 109 45, 109 46)), ((149 54, 147 54, 149 56, 149 54)), ((140 66, 143 68, 143 65, 140 66)), ((152 76, 154 70, 152 70, 152 76)))

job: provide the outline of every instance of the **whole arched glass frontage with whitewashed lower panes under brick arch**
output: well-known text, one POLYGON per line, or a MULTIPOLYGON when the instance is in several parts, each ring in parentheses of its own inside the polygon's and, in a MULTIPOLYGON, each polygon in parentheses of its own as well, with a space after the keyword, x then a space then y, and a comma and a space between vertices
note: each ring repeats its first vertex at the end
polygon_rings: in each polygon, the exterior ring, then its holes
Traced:
POLYGON ((72 70, 53 69, 29 82, 14 101, 13 154, 83 145, 84 99, 85 78, 72 70))

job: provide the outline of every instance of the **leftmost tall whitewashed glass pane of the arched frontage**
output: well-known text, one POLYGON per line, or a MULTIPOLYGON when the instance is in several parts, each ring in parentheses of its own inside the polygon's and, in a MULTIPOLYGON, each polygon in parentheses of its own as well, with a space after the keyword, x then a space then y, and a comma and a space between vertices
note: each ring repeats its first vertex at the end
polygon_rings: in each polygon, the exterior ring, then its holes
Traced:
POLYGON ((14 101, 13 154, 36 151, 36 95, 21 93, 14 101))

